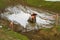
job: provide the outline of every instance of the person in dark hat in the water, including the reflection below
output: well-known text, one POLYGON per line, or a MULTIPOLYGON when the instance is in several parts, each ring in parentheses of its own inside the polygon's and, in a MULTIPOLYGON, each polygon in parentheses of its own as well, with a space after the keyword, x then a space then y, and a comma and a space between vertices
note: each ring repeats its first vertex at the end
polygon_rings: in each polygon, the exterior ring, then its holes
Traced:
POLYGON ((31 17, 28 19, 28 24, 26 25, 26 31, 37 29, 36 15, 35 13, 31 14, 31 17))

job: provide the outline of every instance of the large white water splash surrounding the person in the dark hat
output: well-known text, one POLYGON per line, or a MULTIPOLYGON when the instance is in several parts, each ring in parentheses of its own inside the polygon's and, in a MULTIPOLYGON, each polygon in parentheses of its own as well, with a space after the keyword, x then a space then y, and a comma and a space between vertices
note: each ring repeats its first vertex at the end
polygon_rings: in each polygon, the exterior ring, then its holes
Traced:
POLYGON ((17 23, 21 24, 24 28, 29 26, 28 28, 31 30, 34 28, 37 29, 37 25, 40 28, 41 26, 47 27, 46 25, 50 26, 51 23, 52 24, 54 23, 53 21, 51 21, 54 20, 54 18, 51 17, 52 14, 49 15, 49 13, 44 13, 44 12, 39 13, 35 10, 32 10, 29 7, 24 8, 24 6, 20 5, 20 6, 8 7, 5 10, 7 12, 4 12, 5 13, 3 14, 4 17, 7 17, 11 21, 16 21, 17 23), (29 22, 27 21, 33 12, 37 14, 36 24, 34 27, 32 27, 31 24, 29 24, 29 22))

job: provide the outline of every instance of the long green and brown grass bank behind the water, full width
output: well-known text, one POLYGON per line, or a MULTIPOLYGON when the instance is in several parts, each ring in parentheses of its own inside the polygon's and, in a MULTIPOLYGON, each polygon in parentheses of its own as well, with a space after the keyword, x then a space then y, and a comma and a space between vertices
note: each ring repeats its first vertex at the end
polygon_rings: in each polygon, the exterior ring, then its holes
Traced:
POLYGON ((4 9, 7 6, 17 5, 20 3, 24 5, 28 4, 43 10, 60 13, 60 2, 47 2, 44 0, 0 0, 0 9, 4 9))

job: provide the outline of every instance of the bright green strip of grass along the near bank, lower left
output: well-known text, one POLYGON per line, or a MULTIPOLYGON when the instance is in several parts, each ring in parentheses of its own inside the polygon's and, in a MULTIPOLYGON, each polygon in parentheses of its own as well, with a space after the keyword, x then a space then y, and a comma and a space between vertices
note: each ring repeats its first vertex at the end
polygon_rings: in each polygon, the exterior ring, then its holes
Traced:
POLYGON ((26 36, 21 35, 19 33, 16 33, 14 31, 8 31, 8 32, 6 32, 6 34, 13 37, 13 38, 15 38, 15 39, 17 39, 17 40, 18 39, 20 39, 20 40, 29 40, 26 36))

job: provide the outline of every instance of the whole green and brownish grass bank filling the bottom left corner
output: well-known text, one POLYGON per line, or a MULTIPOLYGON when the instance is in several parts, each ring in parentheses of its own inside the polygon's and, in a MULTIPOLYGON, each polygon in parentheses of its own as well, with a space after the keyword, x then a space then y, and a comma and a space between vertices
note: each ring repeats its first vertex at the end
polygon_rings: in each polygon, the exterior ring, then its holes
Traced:
POLYGON ((26 36, 14 32, 12 30, 7 30, 7 28, 3 27, 0 29, 0 40, 29 40, 26 36))

